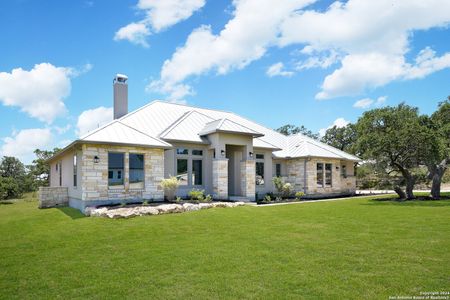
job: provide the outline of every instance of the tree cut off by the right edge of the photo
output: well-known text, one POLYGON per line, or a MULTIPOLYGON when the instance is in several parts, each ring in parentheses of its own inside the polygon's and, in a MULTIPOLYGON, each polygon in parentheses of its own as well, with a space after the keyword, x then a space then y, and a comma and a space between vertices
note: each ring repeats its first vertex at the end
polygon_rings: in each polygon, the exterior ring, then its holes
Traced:
POLYGON ((439 104, 438 110, 430 118, 424 118, 425 126, 431 130, 433 142, 428 144, 424 159, 432 180, 431 197, 441 196, 442 178, 450 163, 450 96, 439 104))

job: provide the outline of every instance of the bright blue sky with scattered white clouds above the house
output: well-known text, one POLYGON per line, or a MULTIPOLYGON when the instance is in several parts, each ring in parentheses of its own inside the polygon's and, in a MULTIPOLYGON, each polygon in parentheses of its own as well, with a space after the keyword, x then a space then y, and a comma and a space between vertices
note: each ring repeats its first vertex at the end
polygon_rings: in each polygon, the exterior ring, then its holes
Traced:
POLYGON ((30 163, 153 100, 314 132, 450 95, 447 0, 0 1, 0 156, 30 163))

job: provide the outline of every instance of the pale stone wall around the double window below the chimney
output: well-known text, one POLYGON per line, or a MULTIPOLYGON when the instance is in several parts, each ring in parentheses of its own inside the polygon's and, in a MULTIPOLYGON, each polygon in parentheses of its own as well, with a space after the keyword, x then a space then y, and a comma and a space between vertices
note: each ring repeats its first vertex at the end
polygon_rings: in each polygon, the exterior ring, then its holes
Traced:
POLYGON ((163 199, 160 187, 164 178, 164 150, 132 146, 92 145, 82 146, 81 160, 82 200, 163 199), (108 186, 108 152, 122 152, 124 157, 124 185, 108 186), (129 183, 129 154, 144 154, 144 187, 133 188, 129 183), (99 162, 94 163, 94 157, 99 162))

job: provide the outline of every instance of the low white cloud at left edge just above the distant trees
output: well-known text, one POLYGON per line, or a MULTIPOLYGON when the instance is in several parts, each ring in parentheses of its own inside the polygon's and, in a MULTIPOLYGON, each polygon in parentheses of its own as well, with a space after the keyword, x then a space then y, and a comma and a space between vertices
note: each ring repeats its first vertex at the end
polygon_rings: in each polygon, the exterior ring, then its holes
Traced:
POLYGON ((19 132, 13 132, 11 137, 3 139, 0 155, 14 156, 23 163, 29 164, 34 159, 33 151, 37 148, 47 149, 52 139, 49 128, 23 129, 19 132))

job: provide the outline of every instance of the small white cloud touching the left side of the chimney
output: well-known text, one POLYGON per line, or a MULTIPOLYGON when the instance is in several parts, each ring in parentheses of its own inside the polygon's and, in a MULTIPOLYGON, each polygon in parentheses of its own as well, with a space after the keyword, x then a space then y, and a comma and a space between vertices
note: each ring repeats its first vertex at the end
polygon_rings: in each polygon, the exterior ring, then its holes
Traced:
POLYGON ((112 107, 97 107, 83 111, 78 116, 76 134, 83 136, 91 130, 94 130, 113 119, 112 107))

